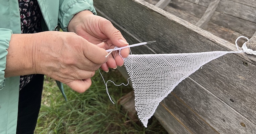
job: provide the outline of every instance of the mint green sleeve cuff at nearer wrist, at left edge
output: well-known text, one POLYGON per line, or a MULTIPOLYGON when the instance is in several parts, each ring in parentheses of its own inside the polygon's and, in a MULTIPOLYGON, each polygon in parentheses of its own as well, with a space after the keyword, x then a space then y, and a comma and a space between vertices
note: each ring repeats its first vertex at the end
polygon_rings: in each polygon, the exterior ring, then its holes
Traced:
POLYGON ((6 67, 7 49, 9 48, 11 35, 12 30, 0 28, 0 90, 5 86, 4 70, 6 67))

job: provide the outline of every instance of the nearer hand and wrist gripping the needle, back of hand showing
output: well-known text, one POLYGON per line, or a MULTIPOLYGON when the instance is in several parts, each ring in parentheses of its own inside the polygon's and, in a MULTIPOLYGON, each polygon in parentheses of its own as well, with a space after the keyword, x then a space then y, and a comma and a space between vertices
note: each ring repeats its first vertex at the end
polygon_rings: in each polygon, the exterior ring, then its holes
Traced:
POLYGON ((95 70, 108 60, 105 49, 72 32, 13 34, 7 51, 5 77, 45 74, 77 92, 90 87, 95 70))

